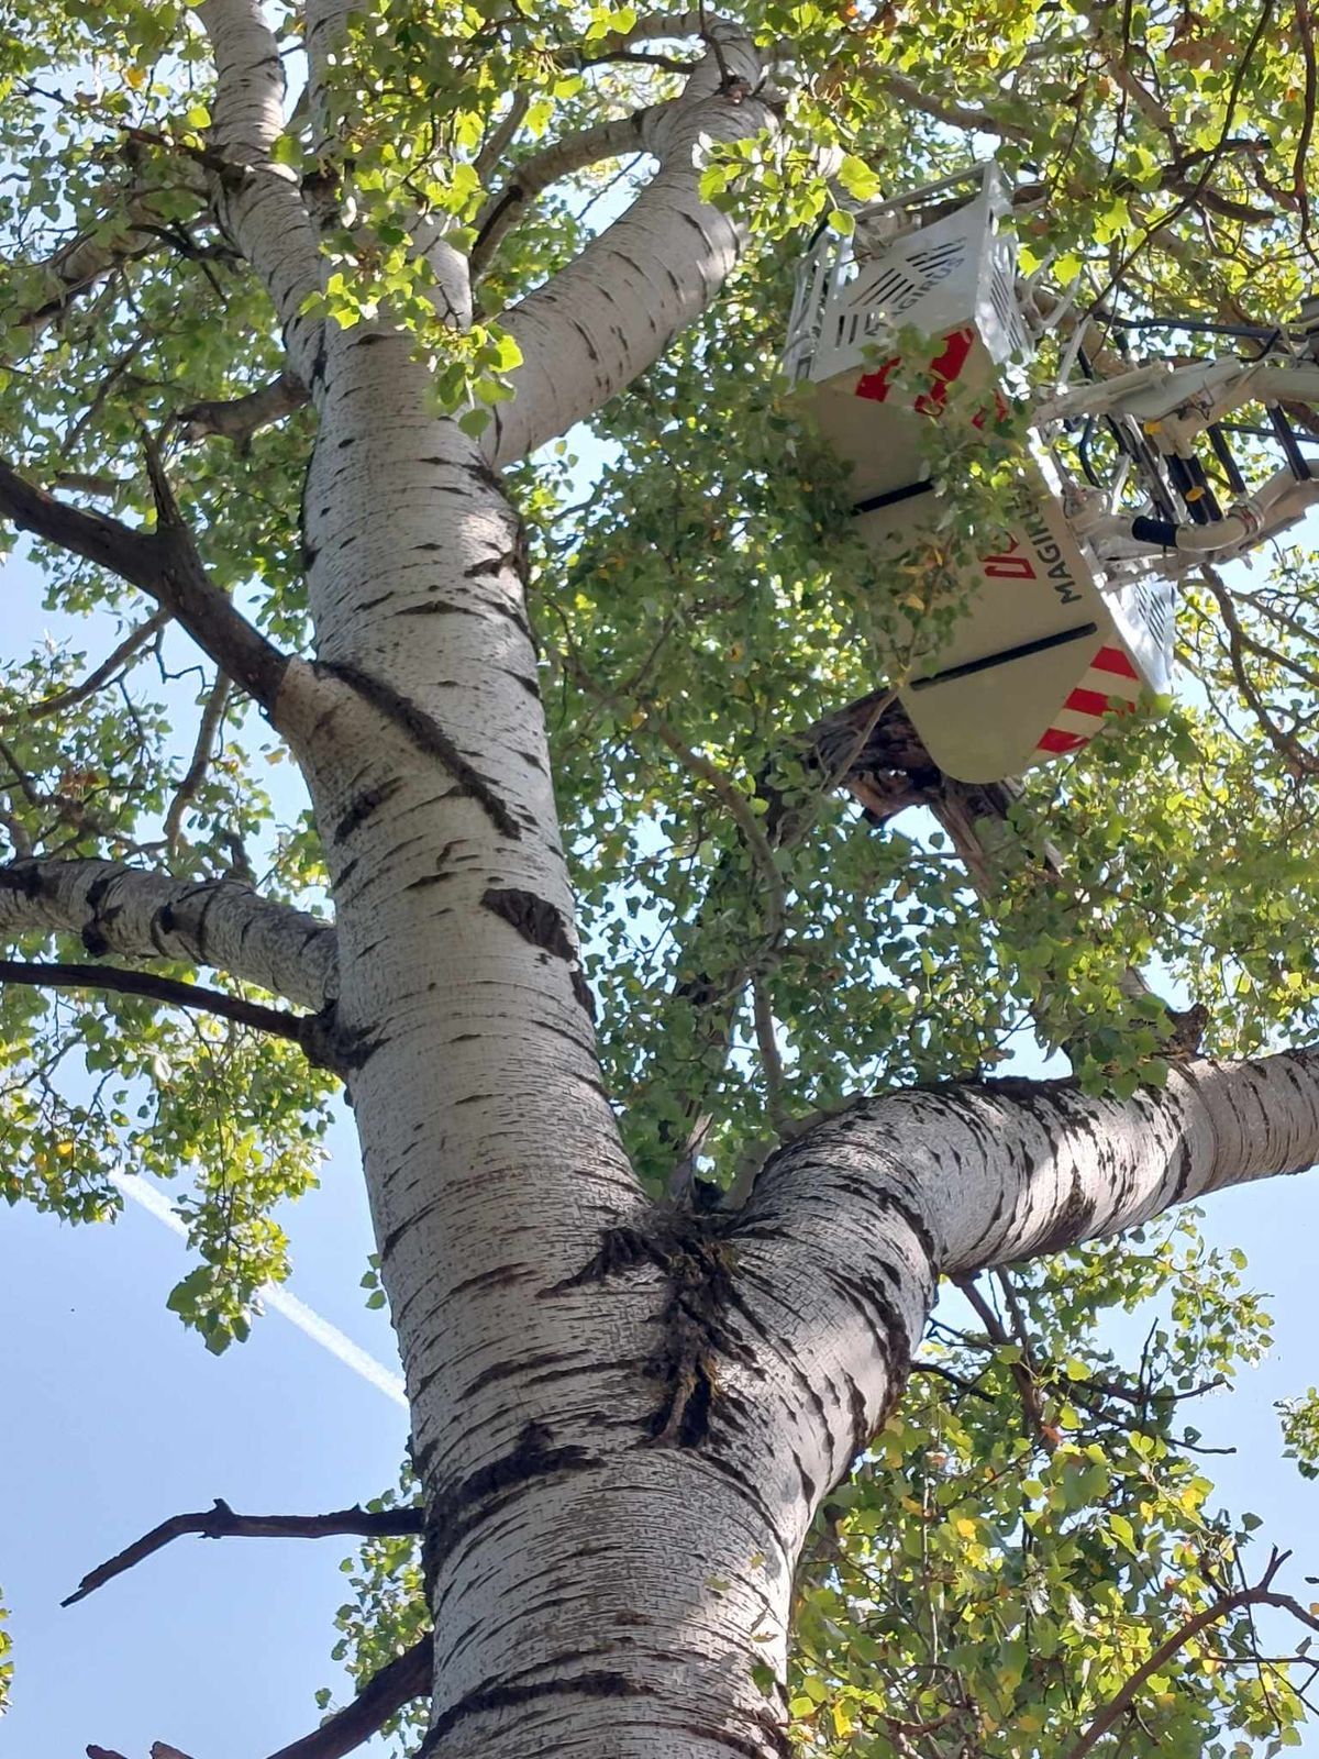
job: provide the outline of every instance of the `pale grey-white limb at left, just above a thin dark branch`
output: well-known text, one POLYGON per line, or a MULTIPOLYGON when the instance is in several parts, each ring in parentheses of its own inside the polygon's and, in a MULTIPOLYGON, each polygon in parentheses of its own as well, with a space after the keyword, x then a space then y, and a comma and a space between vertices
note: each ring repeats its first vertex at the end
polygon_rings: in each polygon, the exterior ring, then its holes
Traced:
POLYGON ((236 880, 172 880, 118 862, 0 867, 0 936, 76 934, 90 953, 183 959, 318 1010, 336 994, 334 929, 236 880))

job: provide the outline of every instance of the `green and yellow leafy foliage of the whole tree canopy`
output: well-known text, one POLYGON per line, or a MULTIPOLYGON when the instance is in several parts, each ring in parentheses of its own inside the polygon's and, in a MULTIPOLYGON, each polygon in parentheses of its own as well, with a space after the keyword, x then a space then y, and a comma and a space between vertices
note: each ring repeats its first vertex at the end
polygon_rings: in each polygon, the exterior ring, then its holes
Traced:
MULTIPOLYGON (((846 230, 855 201, 988 144, 1018 190, 1022 266, 1053 297, 1133 320, 1286 320, 1315 266, 1305 0, 737 14, 779 123, 707 155, 703 192, 742 225, 742 262, 589 427, 510 471, 603 1066, 656 1194, 696 1119, 702 1177, 730 1186, 860 1089, 992 1073, 1031 1047, 1068 1047, 1094 1091, 1157 1082, 1162 1006, 1131 992, 1129 967, 1205 1011, 1210 1052, 1319 1036, 1315 552, 1185 595, 1177 704, 1034 772, 997 894, 978 899, 927 814, 869 827, 807 762, 805 730, 893 674, 927 582, 879 575, 848 536, 839 461, 777 369, 813 229, 846 230)), ((271 18, 301 86, 299 9, 271 18)), ((598 158, 565 151, 538 190, 543 157, 672 99, 698 33, 656 47, 631 7, 557 0, 359 7, 324 106, 294 106, 274 151, 332 208, 304 311, 343 327, 389 313, 431 362, 436 408, 487 431, 517 394, 510 306, 649 174, 623 135, 598 158), (419 213, 480 264, 470 324, 452 322, 419 213)), ((0 81, 9 463, 151 529, 158 459, 209 579, 310 653, 311 419, 290 406, 236 442, 213 413, 285 357, 215 223, 236 172, 208 146, 195 16, 33 0, 5 21, 0 81)), ((969 434, 939 443, 950 540, 969 540, 992 529, 1002 478, 969 434)), ((55 544, 32 559, 60 637, 11 653, 0 681, 7 858, 259 876, 322 908, 322 830, 248 698, 106 568, 55 544)), ((260 1286, 288 1272, 273 1210, 315 1179, 329 1073, 142 997, 7 985, 0 1008, 5 1198, 84 1223, 114 1214, 116 1171, 186 1187, 195 1263, 169 1302, 211 1347, 244 1337, 260 1286)), ((1170 1625, 1254 1567, 1257 1523, 1217 1509, 1187 1402, 1266 1342, 1242 1266, 1185 1219, 950 1291, 802 1566, 800 1750, 1085 1750, 1080 1731, 1170 1625), (1104 1316, 1136 1309, 1157 1321, 1131 1360, 1104 1316)), ((1314 1393, 1284 1425, 1312 1476, 1314 1393)), ((373 1541, 352 1588, 336 1653, 366 1678, 424 1629, 415 1544, 373 1541)), ((1256 1653, 1249 1606, 1215 1618, 1099 1750, 1296 1745, 1307 1669, 1256 1653)))

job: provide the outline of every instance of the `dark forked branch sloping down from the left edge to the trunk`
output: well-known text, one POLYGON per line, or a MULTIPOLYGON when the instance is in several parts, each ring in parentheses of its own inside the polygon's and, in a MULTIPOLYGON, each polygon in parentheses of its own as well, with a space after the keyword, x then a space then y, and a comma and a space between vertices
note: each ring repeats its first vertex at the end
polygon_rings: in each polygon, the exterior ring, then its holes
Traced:
POLYGON ((288 656, 267 642, 209 580, 186 526, 162 494, 158 470, 153 470, 153 478, 164 501, 155 531, 139 531, 106 514, 56 501, 4 463, 0 515, 148 593, 278 725, 276 702, 290 668, 288 656))

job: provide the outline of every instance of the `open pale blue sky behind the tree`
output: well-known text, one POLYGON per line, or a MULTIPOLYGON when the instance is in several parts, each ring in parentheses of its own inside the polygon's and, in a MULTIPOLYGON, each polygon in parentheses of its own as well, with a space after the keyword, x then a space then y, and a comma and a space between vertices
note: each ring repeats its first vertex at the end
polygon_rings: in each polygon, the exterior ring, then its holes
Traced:
MULTIPOLYGON (((0 603, 4 658, 46 628, 67 633, 21 563, 4 570, 0 603)), ((346 1117, 322 1187, 285 1221, 294 1293, 396 1367, 387 1319, 359 1288, 371 1233, 346 1117)), ((1264 1518, 1261 1558, 1270 1543, 1296 1550, 1287 1585, 1300 1588, 1319 1574, 1319 1485, 1280 1462, 1273 1400, 1319 1381, 1319 1177, 1226 1193, 1206 1231, 1245 1249, 1277 1319, 1268 1361, 1198 1405, 1205 1441, 1238 1449, 1206 1460, 1206 1476, 1226 1504, 1264 1518)), ((144 1759, 155 1740, 193 1759, 260 1759, 315 1726, 317 1687, 345 1690, 329 1660, 345 1541, 179 1541, 58 1606, 167 1514, 215 1497, 244 1513, 341 1507, 396 1476, 404 1412, 278 1314, 208 1356, 164 1305, 183 1263, 179 1240, 132 1207, 114 1228, 83 1230, 0 1210, 0 1583, 18 1669, 4 1734, 21 1759, 65 1759, 88 1741, 144 1759)), ((1319 1733, 1298 1750, 1319 1759, 1319 1733)))

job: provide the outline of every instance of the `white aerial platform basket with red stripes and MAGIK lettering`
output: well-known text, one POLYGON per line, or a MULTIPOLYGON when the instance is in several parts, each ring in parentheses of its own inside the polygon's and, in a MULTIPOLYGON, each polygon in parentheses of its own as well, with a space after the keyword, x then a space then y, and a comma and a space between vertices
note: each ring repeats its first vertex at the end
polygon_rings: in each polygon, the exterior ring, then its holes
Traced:
MULTIPOLYGON (((923 473, 930 419, 953 399, 992 410, 1004 368, 1032 341, 1017 299, 1017 250, 1001 222, 1008 190, 980 164, 855 216, 849 239, 821 237, 798 271, 784 364, 814 387, 827 440, 851 464, 867 542, 897 559, 937 540, 923 473), (899 331, 929 336, 925 389, 904 389, 899 331)), ((958 568, 966 610, 918 660, 900 691, 934 762, 962 781, 1022 774, 1083 746, 1113 705, 1164 690, 1173 586, 1110 575, 1064 512, 1041 445, 1022 449, 1008 531, 958 568)))

